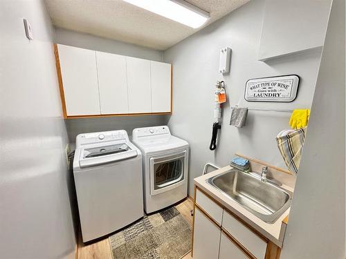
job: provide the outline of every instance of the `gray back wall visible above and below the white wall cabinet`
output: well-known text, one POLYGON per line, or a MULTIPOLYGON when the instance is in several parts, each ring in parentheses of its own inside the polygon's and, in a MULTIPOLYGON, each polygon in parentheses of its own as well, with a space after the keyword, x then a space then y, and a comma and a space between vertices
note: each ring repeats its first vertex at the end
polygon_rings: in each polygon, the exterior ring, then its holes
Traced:
MULTIPOLYGON (((142 59, 162 61, 163 52, 144 48, 133 44, 126 44, 120 41, 113 41, 102 37, 96 37, 71 30, 55 28, 55 43, 75 46, 79 48, 89 48, 110 52, 118 55, 138 57, 142 59)), ((105 117, 105 118, 83 118, 66 119, 66 128, 70 142, 75 142, 76 135, 87 132, 114 131, 124 129, 129 135, 132 130, 145 126, 160 126, 167 124, 169 116, 134 116, 134 117, 105 117)))

